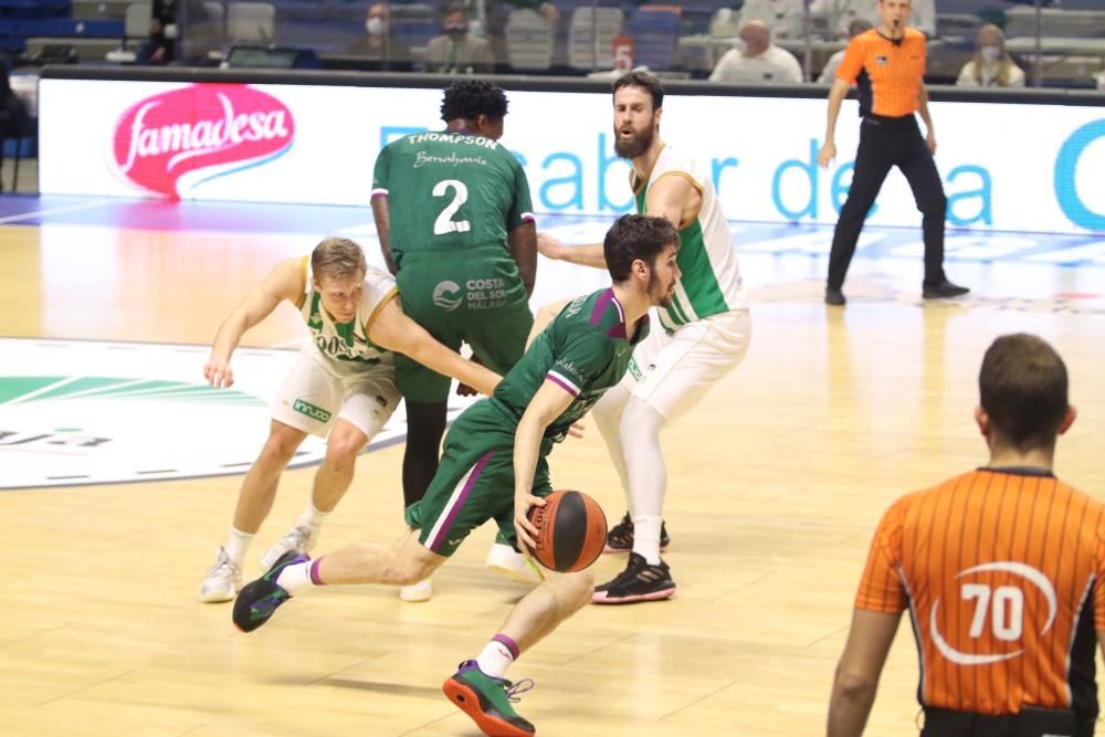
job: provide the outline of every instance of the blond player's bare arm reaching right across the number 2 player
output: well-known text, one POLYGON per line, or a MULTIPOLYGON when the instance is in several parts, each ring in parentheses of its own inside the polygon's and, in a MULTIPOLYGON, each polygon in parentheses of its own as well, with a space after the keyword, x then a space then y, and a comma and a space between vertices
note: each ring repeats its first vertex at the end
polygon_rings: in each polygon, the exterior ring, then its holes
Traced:
POLYGON ((411 360, 438 373, 451 376, 484 394, 490 396, 494 392, 502 378, 438 343, 421 325, 403 314, 399 297, 383 306, 368 326, 368 337, 381 348, 403 354, 411 360))

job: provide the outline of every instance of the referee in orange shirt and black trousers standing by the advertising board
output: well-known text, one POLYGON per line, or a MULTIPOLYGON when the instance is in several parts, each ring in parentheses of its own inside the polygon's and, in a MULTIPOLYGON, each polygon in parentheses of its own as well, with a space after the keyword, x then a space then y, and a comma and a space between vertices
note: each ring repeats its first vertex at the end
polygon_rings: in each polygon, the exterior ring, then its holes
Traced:
POLYGON ((829 91, 829 127, 824 146, 818 152, 818 162, 822 167, 828 167, 836 157, 836 144, 833 141, 836 116, 853 81, 859 88, 860 115, 863 117, 852 187, 841 208, 829 254, 825 303, 830 305, 843 305, 845 302, 842 287, 848 265, 855 253, 855 242, 891 167, 897 167, 905 175, 917 209, 924 215, 925 280, 922 295, 933 299, 969 292, 944 275, 947 198, 933 160, 936 136, 923 78, 925 34, 906 28, 911 11, 911 0, 880 0, 882 22, 877 29, 861 33, 849 42, 829 91), (928 128, 926 138, 922 137, 914 117, 917 112, 928 128))

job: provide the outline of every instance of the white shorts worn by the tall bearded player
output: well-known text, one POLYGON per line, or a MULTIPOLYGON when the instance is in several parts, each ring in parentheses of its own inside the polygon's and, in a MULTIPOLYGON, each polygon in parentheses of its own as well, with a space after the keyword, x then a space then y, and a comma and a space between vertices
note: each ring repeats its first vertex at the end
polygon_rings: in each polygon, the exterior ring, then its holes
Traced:
POLYGON ((695 320, 672 335, 653 316, 652 328, 633 351, 622 386, 674 422, 740 364, 753 320, 747 309, 737 309, 695 320))

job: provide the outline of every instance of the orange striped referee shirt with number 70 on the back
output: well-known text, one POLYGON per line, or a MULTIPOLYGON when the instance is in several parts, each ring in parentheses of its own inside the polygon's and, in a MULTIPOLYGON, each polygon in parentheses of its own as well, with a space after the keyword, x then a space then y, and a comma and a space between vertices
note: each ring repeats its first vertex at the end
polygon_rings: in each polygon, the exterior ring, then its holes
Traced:
POLYGON ((979 468, 898 499, 857 609, 909 609, 924 706, 1097 713, 1105 505, 1039 468, 979 468))

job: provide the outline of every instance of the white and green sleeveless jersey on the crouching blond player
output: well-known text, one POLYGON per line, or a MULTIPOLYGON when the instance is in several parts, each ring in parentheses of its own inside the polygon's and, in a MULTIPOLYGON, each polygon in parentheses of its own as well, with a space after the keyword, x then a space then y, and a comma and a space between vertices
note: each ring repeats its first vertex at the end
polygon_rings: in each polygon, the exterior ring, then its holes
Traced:
POLYGON ((324 359, 346 368, 392 364, 394 356, 368 339, 372 322, 397 294, 399 287, 390 274, 368 267, 365 291, 361 293, 357 316, 348 323, 335 323, 323 307, 322 295, 315 291, 311 278, 311 256, 304 256, 299 273, 303 275, 303 296, 299 314, 311 333, 311 343, 324 359))

